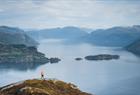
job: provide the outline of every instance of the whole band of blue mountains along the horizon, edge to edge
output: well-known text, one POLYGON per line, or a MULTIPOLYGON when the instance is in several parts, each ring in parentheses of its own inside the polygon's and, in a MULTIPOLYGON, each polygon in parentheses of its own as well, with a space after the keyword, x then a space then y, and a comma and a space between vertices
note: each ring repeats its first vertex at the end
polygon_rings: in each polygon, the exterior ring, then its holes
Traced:
POLYGON ((140 55, 140 25, 91 31, 92 29, 68 26, 24 32, 19 28, 0 26, 0 43, 36 46, 38 43, 35 40, 66 39, 72 43, 82 42, 100 46, 125 47, 140 55))

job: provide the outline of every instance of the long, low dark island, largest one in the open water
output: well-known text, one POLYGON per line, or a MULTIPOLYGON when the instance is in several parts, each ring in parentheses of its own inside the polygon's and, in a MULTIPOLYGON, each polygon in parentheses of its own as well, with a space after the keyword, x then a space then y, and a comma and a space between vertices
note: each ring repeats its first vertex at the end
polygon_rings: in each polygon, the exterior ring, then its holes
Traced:
POLYGON ((86 60, 112 60, 119 59, 119 55, 110 55, 110 54, 99 54, 99 55, 89 55, 86 56, 86 60))

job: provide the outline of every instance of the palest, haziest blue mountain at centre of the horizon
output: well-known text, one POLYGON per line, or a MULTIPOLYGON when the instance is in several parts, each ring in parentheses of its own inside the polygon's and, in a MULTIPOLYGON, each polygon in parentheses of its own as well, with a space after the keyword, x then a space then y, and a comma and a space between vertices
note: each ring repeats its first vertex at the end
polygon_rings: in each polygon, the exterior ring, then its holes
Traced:
POLYGON ((82 29, 72 26, 28 31, 27 33, 34 39, 76 39, 88 34, 82 29))

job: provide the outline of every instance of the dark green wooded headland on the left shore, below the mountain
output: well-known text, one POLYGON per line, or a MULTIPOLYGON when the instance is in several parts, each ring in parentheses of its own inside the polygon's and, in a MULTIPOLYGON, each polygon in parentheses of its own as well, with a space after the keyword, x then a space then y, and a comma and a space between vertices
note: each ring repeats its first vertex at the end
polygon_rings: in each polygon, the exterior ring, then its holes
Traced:
POLYGON ((47 63, 48 58, 36 47, 0 44, 0 63, 47 63))

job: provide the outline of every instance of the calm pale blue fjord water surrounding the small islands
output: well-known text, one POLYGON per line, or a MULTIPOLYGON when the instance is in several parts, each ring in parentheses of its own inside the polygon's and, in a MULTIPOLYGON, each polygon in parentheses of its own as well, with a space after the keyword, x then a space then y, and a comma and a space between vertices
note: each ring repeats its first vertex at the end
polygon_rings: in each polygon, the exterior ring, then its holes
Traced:
MULTIPOLYGON (((0 86, 25 79, 56 78, 77 85, 82 91, 97 95, 139 95, 140 58, 118 47, 99 47, 90 44, 67 44, 58 40, 43 40, 38 50, 47 57, 59 57, 56 64, 41 65, 36 69, 0 68, 0 86), (119 60, 76 61, 87 55, 118 54, 119 60)), ((15 66, 16 67, 16 66, 15 66)), ((22 67, 21 67, 22 68, 22 67)))

